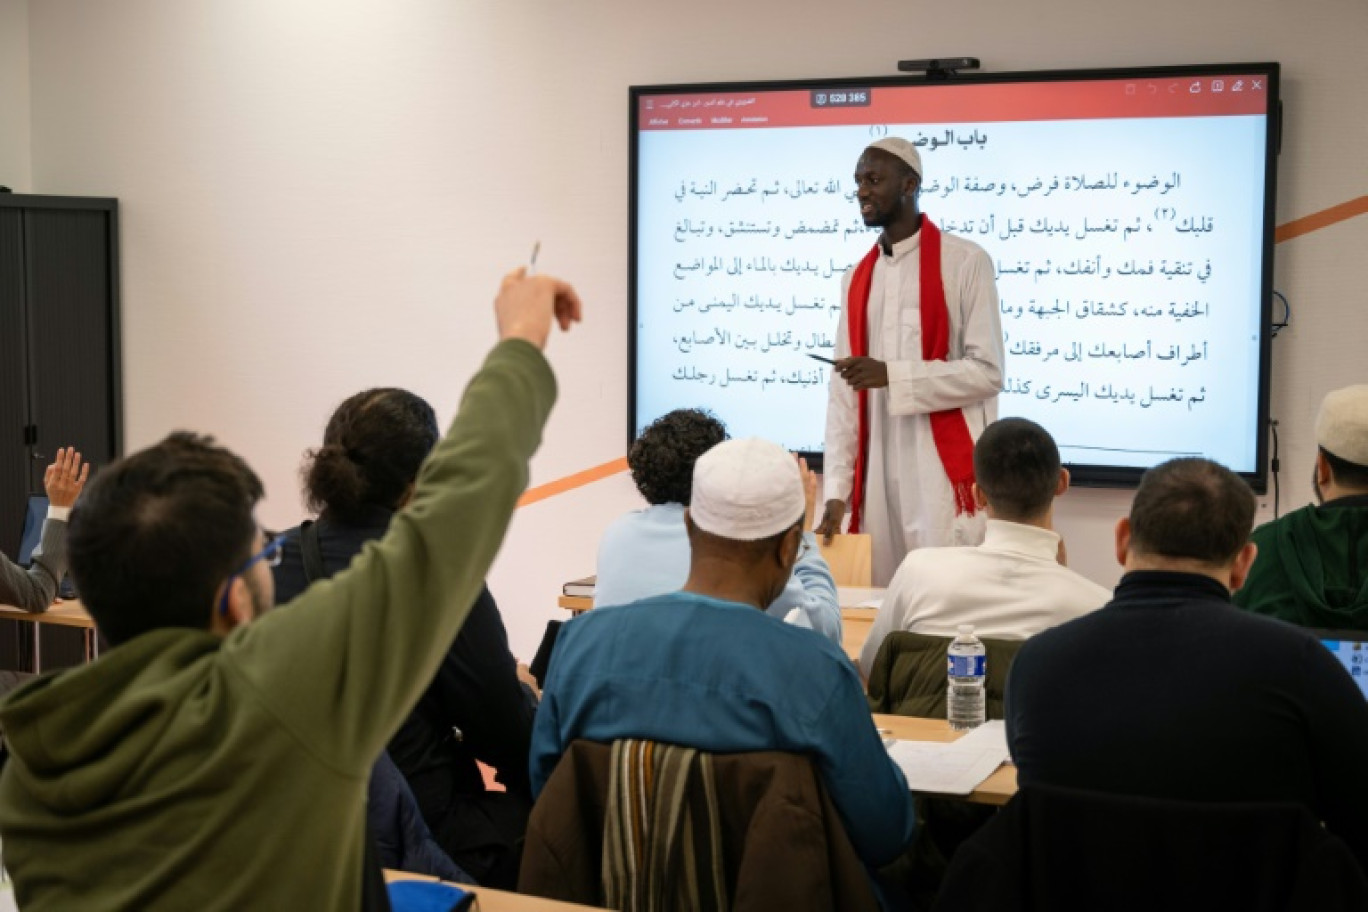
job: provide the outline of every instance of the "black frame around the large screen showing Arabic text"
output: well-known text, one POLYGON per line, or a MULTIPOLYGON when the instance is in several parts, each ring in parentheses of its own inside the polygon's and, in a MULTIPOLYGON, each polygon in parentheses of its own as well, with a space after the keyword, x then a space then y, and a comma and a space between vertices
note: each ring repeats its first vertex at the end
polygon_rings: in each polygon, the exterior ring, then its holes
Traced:
MULTIPOLYGON (((1263 213, 1263 263, 1260 267, 1260 313, 1259 313, 1259 391, 1256 402, 1254 470, 1239 472, 1249 485, 1264 494, 1268 485, 1268 410, 1272 372, 1272 271, 1274 271, 1274 213, 1278 187, 1278 153, 1282 137, 1282 96, 1278 63, 1224 63, 1189 64, 1171 67, 1124 67, 1097 70, 1022 70, 1012 72, 973 72, 948 75, 923 74, 900 77, 840 77, 815 79, 751 81, 751 82, 698 82, 670 85, 642 85, 628 89, 628 265, 627 265, 627 313, 628 313, 628 357, 627 357, 627 443, 631 448, 636 439, 636 384, 637 384, 637 168, 640 130, 640 98, 657 94, 681 93, 722 93, 722 92, 806 92, 818 89, 882 89, 928 85, 988 85, 1001 82, 1071 82, 1103 79, 1163 79, 1182 77, 1219 77, 1231 72, 1257 74, 1268 79, 1268 119, 1264 137, 1264 213, 1263 213)), ((821 470, 821 453, 803 453, 808 465, 821 470)), ((1066 464, 1073 484, 1099 488, 1134 488, 1140 484, 1145 469, 1124 466, 1104 466, 1090 464, 1066 464)))

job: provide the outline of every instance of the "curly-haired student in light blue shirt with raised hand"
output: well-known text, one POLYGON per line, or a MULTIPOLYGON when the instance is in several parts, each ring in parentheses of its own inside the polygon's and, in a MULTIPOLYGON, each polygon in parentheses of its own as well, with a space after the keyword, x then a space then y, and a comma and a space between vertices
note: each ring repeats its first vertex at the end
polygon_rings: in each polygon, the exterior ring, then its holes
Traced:
MULTIPOLYGON (((726 428, 699 409, 676 409, 661 416, 632 443, 627 454, 636 489, 650 505, 618 517, 599 541, 594 604, 625 604, 676 592, 688 578, 689 543, 684 507, 694 487, 694 464, 726 439, 726 428)), ((836 582, 817 548, 813 507, 817 476, 802 464, 807 514, 803 554, 793 576, 766 613, 807 626, 841 643, 841 611, 836 582)))

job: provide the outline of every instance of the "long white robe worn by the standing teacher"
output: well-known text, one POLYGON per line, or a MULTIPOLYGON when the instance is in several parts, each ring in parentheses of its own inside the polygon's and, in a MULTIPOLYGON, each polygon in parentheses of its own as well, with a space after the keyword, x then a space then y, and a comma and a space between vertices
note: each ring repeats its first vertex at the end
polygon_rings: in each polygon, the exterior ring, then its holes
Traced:
MULTIPOLYGON (((921 231, 881 253, 869 293, 869 356, 888 364, 888 387, 869 391, 869 468, 863 532, 873 536, 874 585, 888 585, 908 551, 978 544, 982 511, 956 515, 955 496, 932 438, 929 414, 963 409, 977 440, 997 418, 1003 387, 1003 330, 988 253, 971 241, 941 235, 941 279, 949 312, 945 361, 922 358, 921 231)), ((836 357, 850 357, 850 283, 841 279, 836 357)), ((824 454, 825 496, 851 500, 859 450, 859 402, 832 373, 824 454)))

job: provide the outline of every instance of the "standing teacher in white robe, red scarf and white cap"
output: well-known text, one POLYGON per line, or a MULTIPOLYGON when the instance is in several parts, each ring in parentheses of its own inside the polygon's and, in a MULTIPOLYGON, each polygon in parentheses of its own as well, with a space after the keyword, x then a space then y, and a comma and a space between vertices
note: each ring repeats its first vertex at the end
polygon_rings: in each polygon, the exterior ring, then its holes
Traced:
POLYGON ((993 263, 918 211, 922 160, 907 139, 855 165, 865 224, 882 228, 841 282, 826 406, 826 511, 818 532, 874 541, 876 585, 912 548, 978 544, 974 439, 997 417, 1003 332, 993 263))

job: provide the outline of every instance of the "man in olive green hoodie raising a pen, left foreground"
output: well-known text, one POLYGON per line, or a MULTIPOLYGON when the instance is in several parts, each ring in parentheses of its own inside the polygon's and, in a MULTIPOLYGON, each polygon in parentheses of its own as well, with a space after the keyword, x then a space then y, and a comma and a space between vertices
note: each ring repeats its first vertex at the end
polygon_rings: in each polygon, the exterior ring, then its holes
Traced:
POLYGON ((71 569, 114 648, 0 706, 26 912, 360 905, 371 767, 483 585, 555 398, 540 349, 579 312, 562 282, 503 280, 410 505, 289 611, 237 455, 178 433, 86 487, 71 569))

